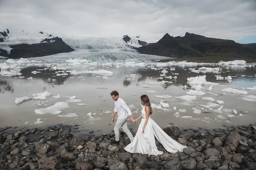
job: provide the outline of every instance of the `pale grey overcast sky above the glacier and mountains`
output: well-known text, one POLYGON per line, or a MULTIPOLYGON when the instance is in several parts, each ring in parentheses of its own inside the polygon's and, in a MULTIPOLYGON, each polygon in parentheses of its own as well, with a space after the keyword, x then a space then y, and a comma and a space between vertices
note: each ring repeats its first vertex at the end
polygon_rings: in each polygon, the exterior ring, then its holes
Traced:
POLYGON ((188 32, 256 43, 256 0, 0 0, 0 28, 156 39, 188 32))

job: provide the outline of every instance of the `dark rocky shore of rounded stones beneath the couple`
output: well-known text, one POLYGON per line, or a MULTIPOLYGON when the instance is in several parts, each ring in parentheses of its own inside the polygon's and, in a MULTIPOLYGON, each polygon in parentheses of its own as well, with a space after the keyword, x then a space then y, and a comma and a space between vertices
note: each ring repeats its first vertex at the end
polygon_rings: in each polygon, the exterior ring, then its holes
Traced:
MULTIPOLYGON (((164 129, 168 135, 188 146, 183 152, 168 153, 157 141, 162 155, 131 154, 124 150, 130 143, 121 133, 81 136, 76 126, 48 126, 40 129, 0 129, 0 170, 255 170, 256 124, 213 129, 177 126, 164 129)), ((135 132, 133 132, 135 135, 135 132)))

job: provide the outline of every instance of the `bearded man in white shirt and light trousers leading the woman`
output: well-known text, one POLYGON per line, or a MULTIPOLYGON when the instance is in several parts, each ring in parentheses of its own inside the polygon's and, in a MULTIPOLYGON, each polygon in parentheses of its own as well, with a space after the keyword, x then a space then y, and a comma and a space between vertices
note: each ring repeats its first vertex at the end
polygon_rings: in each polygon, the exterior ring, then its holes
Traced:
POLYGON ((133 141, 133 135, 128 129, 127 126, 127 118, 128 115, 130 117, 130 120, 134 122, 134 119, 132 118, 132 112, 129 109, 129 107, 126 105, 126 102, 119 98, 119 94, 117 91, 113 91, 110 93, 112 99, 114 100, 115 103, 115 108, 114 108, 114 113, 112 116, 112 123, 114 123, 115 115, 117 114, 117 122, 114 127, 114 132, 115 132, 115 142, 113 143, 119 143, 119 129, 122 127, 123 131, 126 133, 126 135, 129 137, 130 141, 133 141))

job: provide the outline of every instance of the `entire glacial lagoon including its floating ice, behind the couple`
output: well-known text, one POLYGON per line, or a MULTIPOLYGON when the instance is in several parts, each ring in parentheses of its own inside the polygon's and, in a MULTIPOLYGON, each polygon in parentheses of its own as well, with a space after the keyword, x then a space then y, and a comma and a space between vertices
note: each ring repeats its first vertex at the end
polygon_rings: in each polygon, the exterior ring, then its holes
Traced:
MULTIPOLYGON (((0 63, 0 127, 63 124, 78 126, 80 133, 112 133, 112 90, 134 118, 141 113, 140 96, 148 95, 150 117, 162 128, 225 129, 256 123, 253 64, 16 61, 0 63)), ((130 130, 138 125, 128 119, 130 130)))

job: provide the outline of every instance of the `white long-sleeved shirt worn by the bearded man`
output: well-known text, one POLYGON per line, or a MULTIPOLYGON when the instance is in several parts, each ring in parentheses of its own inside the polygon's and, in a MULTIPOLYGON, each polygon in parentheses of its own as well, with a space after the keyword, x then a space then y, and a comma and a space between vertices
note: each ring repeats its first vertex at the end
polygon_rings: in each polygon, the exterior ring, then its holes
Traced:
POLYGON ((131 110, 129 107, 126 105, 126 102, 119 98, 118 100, 114 101, 115 103, 115 108, 114 111, 117 112, 117 119, 124 119, 127 118, 128 115, 130 116, 132 114, 131 110))

